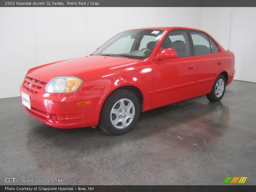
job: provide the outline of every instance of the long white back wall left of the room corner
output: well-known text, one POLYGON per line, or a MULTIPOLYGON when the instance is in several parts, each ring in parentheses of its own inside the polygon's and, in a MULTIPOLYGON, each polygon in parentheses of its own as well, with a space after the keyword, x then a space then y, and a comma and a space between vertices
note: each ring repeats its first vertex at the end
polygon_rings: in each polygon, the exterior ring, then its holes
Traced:
POLYGON ((201 7, 1 7, 0 75, 8 83, 0 98, 20 95, 19 85, 29 68, 90 54, 126 29, 199 28, 200 14, 201 7))

